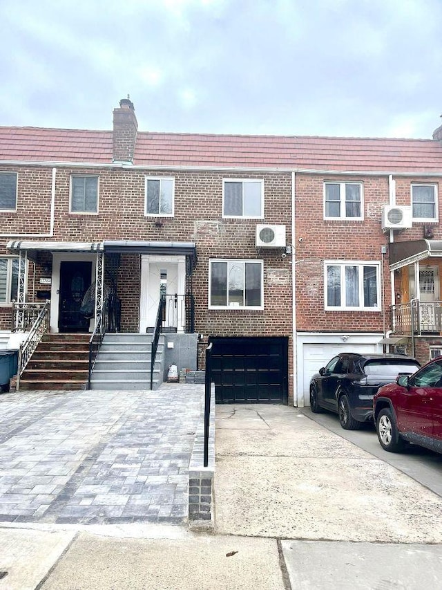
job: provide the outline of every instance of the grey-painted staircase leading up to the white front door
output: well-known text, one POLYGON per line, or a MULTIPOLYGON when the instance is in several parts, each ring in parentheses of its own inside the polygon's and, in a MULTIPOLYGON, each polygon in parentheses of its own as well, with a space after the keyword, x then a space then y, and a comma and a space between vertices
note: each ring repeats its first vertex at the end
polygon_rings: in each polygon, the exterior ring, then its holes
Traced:
MULTIPOLYGON (((151 334, 106 334, 95 361, 90 389, 150 389, 151 341, 151 334)), ((163 372, 164 337, 160 336, 153 389, 160 387, 163 372)))

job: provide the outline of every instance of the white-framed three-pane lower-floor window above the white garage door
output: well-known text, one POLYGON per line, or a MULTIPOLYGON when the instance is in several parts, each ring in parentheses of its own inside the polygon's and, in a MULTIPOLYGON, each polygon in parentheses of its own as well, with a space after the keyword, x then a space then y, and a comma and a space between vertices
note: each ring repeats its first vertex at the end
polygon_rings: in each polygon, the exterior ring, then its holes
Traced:
POLYGON ((381 311, 378 262, 326 261, 325 309, 381 311))

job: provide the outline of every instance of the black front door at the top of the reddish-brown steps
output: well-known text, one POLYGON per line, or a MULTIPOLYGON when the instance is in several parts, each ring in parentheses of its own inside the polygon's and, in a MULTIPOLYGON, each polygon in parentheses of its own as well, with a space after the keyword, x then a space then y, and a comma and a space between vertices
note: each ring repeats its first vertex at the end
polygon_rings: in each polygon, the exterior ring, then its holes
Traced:
POLYGON ((88 318, 80 313, 81 302, 91 283, 92 262, 60 264, 59 331, 88 332, 88 318))

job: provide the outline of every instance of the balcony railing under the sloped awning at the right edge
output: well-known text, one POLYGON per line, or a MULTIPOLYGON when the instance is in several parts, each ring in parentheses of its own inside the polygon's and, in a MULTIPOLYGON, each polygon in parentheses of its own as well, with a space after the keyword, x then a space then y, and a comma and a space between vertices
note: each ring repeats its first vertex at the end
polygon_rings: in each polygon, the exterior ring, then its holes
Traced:
POLYGON ((397 335, 425 335, 442 333, 442 302, 419 301, 400 303, 390 307, 391 326, 397 335))

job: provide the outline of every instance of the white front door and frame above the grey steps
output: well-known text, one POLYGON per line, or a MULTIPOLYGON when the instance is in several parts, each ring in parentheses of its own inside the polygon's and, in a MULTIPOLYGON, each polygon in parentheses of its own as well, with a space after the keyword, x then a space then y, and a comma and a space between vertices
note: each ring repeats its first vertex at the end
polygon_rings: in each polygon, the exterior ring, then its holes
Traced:
POLYGON ((166 329, 184 329, 185 257, 142 256, 140 332, 155 327, 160 295, 166 295, 166 329))

